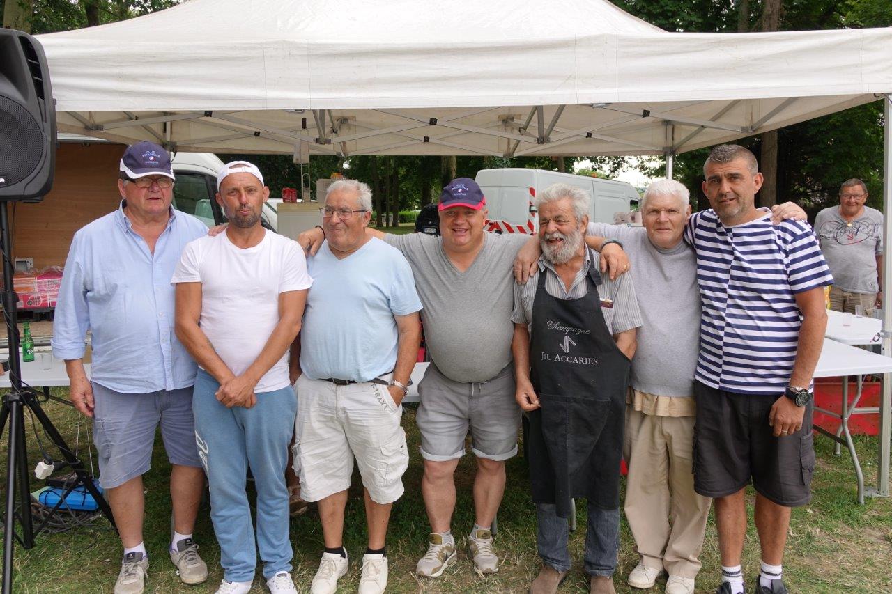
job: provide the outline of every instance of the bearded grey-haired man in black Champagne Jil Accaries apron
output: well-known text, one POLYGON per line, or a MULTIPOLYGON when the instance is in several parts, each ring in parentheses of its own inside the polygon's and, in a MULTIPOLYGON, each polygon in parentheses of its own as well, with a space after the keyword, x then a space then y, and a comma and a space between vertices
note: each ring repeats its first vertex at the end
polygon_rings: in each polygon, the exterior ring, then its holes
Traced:
POLYGON ((625 392, 641 317, 632 278, 600 276, 585 244, 590 201, 566 184, 536 198, 539 269, 514 292, 515 397, 528 415, 524 444, 543 563, 533 594, 554 594, 572 565, 566 518, 575 497, 588 499, 590 591, 615 592, 625 392))

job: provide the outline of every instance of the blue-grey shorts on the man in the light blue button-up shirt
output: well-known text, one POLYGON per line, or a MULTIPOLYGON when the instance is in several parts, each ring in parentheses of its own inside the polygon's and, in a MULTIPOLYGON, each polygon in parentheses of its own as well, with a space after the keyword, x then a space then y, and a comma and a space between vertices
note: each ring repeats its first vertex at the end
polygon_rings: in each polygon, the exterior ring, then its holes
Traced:
POLYGON ((170 464, 202 466, 195 447, 191 387, 124 394, 94 383, 93 398, 93 440, 103 489, 148 472, 159 423, 170 464))

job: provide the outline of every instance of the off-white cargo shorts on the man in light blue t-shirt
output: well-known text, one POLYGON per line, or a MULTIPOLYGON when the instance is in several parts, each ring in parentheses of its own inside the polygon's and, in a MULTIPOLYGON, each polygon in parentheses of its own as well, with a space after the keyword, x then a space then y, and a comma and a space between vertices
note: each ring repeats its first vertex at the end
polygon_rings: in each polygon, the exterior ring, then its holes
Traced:
POLYGON ((301 375, 297 401, 293 468, 303 499, 318 501, 350 487, 354 457, 373 501, 400 499, 409 450, 400 426, 402 407, 387 386, 335 385, 301 375))

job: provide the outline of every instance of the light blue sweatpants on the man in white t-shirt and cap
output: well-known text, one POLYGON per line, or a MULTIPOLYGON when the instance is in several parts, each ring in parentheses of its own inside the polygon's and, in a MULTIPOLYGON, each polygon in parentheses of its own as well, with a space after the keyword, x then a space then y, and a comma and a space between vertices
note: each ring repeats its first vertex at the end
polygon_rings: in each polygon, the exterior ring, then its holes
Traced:
POLYGON ((211 488, 211 522, 224 577, 251 582, 258 549, 265 578, 291 572, 285 466, 297 413, 294 391, 288 386, 262 392, 253 408, 226 408, 214 396, 218 388, 217 380, 199 369, 192 402, 195 441, 211 488), (257 490, 256 545, 245 491, 249 467, 257 490))

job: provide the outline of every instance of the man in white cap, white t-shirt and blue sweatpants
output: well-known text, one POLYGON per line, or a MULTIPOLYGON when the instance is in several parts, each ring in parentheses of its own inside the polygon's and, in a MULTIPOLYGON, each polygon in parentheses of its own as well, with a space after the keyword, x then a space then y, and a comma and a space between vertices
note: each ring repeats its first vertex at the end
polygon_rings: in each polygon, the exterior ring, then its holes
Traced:
POLYGON ((260 226, 268 198, 255 165, 224 165, 217 202, 229 226, 186 245, 170 281, 177 286, 177 335, 200 366, 195 442, 224 569, 218 594, 251 590, 258 550, 269 591, 297 594, 285 486, 297 412, 288 351, 312 280, 298 244, 260 226), (256 540, 245 491, 249 469, 257 491, 256 540))

